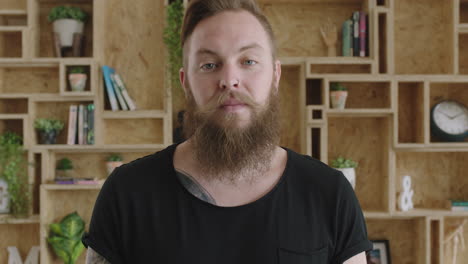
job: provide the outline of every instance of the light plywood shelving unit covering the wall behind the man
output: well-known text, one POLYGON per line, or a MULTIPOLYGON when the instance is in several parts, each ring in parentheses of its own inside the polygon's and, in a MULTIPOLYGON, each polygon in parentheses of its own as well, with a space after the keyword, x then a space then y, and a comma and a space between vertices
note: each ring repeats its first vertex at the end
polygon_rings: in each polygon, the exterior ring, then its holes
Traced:
MULTIPOLYGON (((187 4, 187 0, 184 1, 187 4)), ((468 140, 438 142, 430 134, 430 108, 441 99, 468 105, 467 0, 260 0, 278 38, 282 61, 281 145, 327 164, 337 155, 359 162, 356 194, 371 239, 389 239, 394 263, 452 263, 443 241, 466 212, 444 209, 447 199, 468 199, 468 140), (319 27, 341 24, 353 11, 369 14, 365 58, 326 57, 319 27), (349 88, 347 108, 330 106, 330 85, 349 88), (287 128, 287 130, 286 130, 287 128), (396 201, 401 177, 413 179, 415 209, 396 201)), ((167 0, 3 0, 0 3, 0 132, 24 137, 32 183, 31 217, 0 216, 0 263, 6 247, 25 254, 41 246, 41 263, 59 263, 46 242, 49 224, 77 211, 89 223, 100 186, 52 184, 57 160, 68 157, 77 177, 105 179, 105 157, 129 162, 172 143, 174 113, 183 96, 166 78, 162 41, 167 0), (91 14, 80 58, 56 58, 53 6, 70 4, 91 14), (89 84, 72 93, 67 68, 85 66, 89 84), (123 77, 138 109, 111 111, 102 65, 123 77), (68 119, 70 104, 95 104, 95 144, 37 144, 37 117, 68 119), (24 253, 23 253, 24 252, 24 253)), ((338 42, 338 47, 341 42, 338 42)), ((338 55, 341 54, 337 48, 338 55)), ((65 126, 67 127, 67 126, 65 126)), ((465 229, 465 237, 468 228, 465 229)), ((468 259, 459 251, 458 263, 468 259)), ((78 263, 84 263, 83 254, 78 263)))

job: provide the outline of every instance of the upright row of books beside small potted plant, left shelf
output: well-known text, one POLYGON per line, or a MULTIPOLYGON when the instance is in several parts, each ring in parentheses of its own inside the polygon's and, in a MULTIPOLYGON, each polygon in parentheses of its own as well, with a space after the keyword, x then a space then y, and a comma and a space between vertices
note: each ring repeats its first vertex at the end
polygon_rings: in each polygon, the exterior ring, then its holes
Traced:
POLYGON ((94 144, 94 104, 70 105, 67 144, 94 144))

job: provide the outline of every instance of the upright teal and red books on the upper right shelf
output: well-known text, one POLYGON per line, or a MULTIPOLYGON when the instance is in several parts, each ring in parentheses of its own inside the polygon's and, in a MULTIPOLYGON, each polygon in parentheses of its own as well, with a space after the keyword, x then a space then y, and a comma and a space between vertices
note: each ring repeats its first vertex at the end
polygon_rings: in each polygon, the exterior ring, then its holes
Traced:
POLYGON ((362 11, 353 12, 350 19, 343 23, 342 54, 345 57, 369 56, 369 19, 362 11))

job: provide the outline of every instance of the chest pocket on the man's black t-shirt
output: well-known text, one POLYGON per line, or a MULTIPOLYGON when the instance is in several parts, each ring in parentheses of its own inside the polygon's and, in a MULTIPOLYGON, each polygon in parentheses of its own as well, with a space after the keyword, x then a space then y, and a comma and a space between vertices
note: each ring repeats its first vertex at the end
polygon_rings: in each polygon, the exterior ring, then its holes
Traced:
POLYGON ((301 252, 278 248, 279 264, 327 264, 328 248, 326 246, 310 252, 301 252))

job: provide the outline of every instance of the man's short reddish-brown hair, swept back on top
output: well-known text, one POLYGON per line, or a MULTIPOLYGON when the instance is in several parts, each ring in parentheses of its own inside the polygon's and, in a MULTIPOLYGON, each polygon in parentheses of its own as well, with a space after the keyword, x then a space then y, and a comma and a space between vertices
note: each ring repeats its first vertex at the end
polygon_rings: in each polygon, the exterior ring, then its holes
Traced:
MULTIPOLYGON (((191 0, 185 13, 181 32, 181 44, 185 53, 185 43, 195 27, 202 20, 215 16, 223 11, 247 11, 257 18, 268 35, 272 57, 276 59, 276 40, 270 22, 254 0, 191 0)), ((184 64, 187 62, 184 55, 184 64)))

